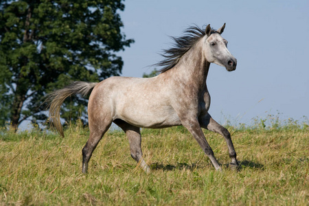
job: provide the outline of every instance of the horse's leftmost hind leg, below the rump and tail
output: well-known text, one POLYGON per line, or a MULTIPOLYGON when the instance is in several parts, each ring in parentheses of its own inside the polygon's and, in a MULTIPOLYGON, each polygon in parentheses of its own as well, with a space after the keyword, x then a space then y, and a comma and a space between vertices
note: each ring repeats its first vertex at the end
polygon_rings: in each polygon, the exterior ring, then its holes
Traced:
POLYGON ((99 141, 102 139, 103 135, 111 126, 111 122, 111 119, 105 119, 105 121, 99 122, 100 124, 98 124, 98 122, 94 122, 94 124, 89 124, 89 139, 84 148, 82 149, 82 173, 87 173, 88 163, 91 158, 92 152, 98 146, 99 141))

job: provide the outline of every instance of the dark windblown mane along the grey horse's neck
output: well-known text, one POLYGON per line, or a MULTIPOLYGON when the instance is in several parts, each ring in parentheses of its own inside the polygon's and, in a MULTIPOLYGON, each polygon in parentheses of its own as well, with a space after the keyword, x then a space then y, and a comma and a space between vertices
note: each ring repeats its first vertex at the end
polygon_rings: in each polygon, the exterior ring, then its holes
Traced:
MULTIPOLYGON (((211 30, 211 34, 215 32, 216 30, 211 30)), ((163 56, 165 59, 155 64, 159 67, 163 67, 159 70, 159 72, 163 73, 169 69, 172 69, 179 62, 181 57, 187 51, 189 51, 189 49, 196 42, 198 42, 198 40, 206 35, 205 30, 202 30, 196 25, 187 28, 187 30, 185 30, 183 33, 184 35, 178 38, 171 36, 171 38, 174 40, 174 47, 163 50, 163 54, 161 54, 161 56, 163 56)))

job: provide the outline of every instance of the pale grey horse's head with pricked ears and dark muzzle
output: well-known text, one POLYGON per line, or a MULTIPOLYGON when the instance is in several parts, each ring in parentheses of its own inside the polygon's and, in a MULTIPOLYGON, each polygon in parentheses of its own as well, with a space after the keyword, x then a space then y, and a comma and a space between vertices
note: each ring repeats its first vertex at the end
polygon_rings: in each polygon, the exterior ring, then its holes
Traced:
POLYGON ((211 30, 210 25, 205 29, 205 57, 208 62, 225 67, 227 71, 236 69, 237 60, 229 53, 227 41, 221 34, 225 30, 225 24, 217 31, 211 30))

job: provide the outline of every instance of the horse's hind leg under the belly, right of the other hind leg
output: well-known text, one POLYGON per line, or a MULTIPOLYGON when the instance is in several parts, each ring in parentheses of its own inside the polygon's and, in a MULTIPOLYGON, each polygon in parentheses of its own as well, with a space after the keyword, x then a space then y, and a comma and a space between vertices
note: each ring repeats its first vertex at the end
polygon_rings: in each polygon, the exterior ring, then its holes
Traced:
POLYGON ((124 133, 126 133, 126 137, 128 137, 128 141, 130 144, 131 157, 135 159, 137 163, 139 163, 139 166, 147 174, 149 174, 150 168, 142 157, 143 152, 141 152, 141 133, 139 131, 139 128, 130 125, 121 119, 115 119, 114 123, 117 124, 120 128, 122 128, 122 130, 124 130, 124 133))

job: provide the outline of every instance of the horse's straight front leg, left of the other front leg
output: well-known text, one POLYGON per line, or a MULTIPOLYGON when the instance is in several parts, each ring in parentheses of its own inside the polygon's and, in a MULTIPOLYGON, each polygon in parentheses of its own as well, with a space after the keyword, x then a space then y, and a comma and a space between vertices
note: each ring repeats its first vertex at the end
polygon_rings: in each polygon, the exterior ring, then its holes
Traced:
POLYGON ((205 154, 209 157, 211 163, 214 165, 214 168, 216 170, 221 170, 221 167, 216 159, 214 157, 214 152, 209 146, 207 140, 205 139, 205 136, 203 134, 203 131, 201 129, 200 124, 198 123, 198 119, 192 118, 192 119, 185 119, 182 121, 183 126, 187 128, 187 130, 190 131, 190 133, 193 135, 193 137, 196 139, 198 144, 201 146, 202 150, 205 152, 205 154))

